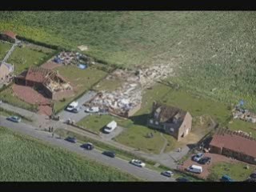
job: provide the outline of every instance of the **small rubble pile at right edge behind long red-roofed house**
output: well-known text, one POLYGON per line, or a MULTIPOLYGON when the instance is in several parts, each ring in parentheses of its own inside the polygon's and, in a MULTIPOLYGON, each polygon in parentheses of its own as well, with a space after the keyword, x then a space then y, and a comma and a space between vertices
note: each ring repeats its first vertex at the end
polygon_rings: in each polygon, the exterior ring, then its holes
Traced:
POLYGON ((236 107, 233 111, 233 118, 238 118, 246 122, 256 123, 256 114, 251 113, 249 110, 243 110, 236 107))

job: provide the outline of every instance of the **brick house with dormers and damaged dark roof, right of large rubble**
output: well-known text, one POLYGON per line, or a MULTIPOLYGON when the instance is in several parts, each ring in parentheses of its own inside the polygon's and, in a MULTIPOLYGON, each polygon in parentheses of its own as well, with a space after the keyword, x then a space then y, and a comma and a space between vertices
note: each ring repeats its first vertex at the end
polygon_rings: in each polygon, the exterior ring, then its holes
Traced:
POLYGON ((174 106, 154 102, 147 126, 174 136, 178 141, 191 131, 192 116, 174 106))

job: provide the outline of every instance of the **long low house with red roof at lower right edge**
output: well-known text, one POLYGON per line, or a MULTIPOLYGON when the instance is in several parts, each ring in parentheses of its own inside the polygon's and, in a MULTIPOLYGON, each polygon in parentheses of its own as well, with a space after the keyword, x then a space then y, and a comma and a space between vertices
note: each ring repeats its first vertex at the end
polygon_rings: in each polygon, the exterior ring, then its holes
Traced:
POLYGON ((210 142, 210 153, 256 164, 256 141, 242 133, 219 129, 210 142))

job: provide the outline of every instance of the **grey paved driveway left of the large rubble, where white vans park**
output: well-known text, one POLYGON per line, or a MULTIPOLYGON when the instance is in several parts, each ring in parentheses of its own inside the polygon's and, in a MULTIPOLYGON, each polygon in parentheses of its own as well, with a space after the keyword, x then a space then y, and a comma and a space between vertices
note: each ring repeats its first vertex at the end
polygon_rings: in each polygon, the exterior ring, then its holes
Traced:
POLYGON ((78 98, 77 100, 78 107, 80 108, 80 111, 78 112, 78 114, 74 114, 70 111, 62 110, 60 113, 57 114, 60 116, 60 121, 66 122, 70 118, 71 121, 79 122, 80 120, 82 120, 82 118, 85 118, 89 114, 85 113, 86 107, 83 106, 83 104, 85 102, 90 101, 91 98, 94 98, 96 94, 97 93, 94 91, 88 91, 86 92, 86 94, 83 94, 82 97, 78 98))

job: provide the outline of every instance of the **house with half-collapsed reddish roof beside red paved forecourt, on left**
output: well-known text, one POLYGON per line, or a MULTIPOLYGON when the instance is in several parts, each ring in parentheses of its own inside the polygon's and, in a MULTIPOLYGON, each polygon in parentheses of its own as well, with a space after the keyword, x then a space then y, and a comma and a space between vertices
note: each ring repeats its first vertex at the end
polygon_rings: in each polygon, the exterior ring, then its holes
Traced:
POLYGON ((47 98, 57 101, 74 96, 72 86, 55 70, 31 66, 28 70, 15 77, 15 82, 16 84, 32 86, 36 90, 41 90, 47 98))

